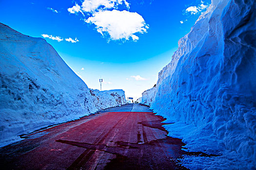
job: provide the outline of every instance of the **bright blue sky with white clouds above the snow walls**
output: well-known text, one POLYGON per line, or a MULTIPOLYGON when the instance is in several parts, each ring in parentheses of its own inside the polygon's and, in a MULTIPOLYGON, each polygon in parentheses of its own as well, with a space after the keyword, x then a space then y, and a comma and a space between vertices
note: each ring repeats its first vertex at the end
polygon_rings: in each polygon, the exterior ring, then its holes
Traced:
POLYGON ((127 97, 138 98, 157 83, 178 40, 210 4, 210 0, 98 1, 0 0, 0 22, 45 38, 89 88, 98 89, 101 77, 102 90, 124 89, 127 97))

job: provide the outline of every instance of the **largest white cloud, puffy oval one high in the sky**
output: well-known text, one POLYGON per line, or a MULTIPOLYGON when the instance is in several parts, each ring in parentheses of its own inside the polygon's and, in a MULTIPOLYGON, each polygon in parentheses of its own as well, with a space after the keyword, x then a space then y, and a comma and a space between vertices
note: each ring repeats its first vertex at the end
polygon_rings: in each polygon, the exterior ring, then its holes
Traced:
POLYGON ((129 11, 100 11, 85 20, 87 23, 95 24, 97 31, 102 35, 109 35, 112 40, 129 40, 130 37, 136 41, 136 33, 146 33, 149 28, 143 17, 138 13, 129 11))

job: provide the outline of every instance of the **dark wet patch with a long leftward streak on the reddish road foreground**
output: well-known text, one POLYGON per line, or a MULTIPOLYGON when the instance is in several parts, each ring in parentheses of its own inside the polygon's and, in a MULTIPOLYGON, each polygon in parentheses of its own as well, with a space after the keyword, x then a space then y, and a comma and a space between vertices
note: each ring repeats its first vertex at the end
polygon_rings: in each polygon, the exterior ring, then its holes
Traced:
POLYGON ((180 169, 184 167, 177 165, 177 158, 182 152, 180 141, 171 137, 152 140, 148 143, 129 143, 118 141, 117 146, 104 144, 89 144, 67 140, 56 140, 57 142, 86 148, 90 150, 103 151, 115 154, 116 158, 111 159, 105 169, 180 169))

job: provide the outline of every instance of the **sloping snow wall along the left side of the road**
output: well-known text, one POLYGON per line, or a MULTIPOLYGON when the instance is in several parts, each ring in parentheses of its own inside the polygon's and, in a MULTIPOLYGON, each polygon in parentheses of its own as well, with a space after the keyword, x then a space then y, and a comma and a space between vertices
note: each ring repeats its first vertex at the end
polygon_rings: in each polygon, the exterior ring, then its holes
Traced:
POLYGON ((0 23, 0 146, 125 103, 123 90, 90 90, 44 39, 0 23))

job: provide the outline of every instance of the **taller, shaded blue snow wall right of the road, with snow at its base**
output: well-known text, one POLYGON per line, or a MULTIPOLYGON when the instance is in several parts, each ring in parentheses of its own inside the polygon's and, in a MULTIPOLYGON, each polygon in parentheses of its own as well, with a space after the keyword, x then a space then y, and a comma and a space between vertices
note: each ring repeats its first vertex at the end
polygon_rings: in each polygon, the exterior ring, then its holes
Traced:
POLYGON ((256 1, 212 0, 142 102, 167 120, 191 169, 256 169, 256 1), (173 124, 171 124, 173 123, 173 124))

